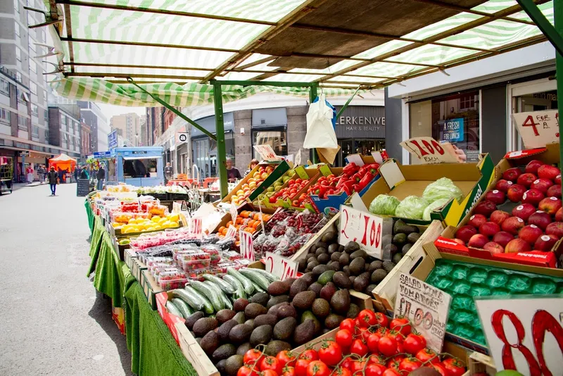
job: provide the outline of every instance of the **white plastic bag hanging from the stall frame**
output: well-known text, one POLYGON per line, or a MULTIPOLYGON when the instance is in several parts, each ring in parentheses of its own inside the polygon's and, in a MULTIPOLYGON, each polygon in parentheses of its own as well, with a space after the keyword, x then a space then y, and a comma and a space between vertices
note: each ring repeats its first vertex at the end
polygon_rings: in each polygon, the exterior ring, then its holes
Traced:
POLYGON ((335 149, 339 146, 336 140, 336 132, 332 127, 332 108, 327 106, 324 94, 320 94, 319 100, 310 104, 307 113, 307 134, 303 147, 306 149, 327 148, 335 149))

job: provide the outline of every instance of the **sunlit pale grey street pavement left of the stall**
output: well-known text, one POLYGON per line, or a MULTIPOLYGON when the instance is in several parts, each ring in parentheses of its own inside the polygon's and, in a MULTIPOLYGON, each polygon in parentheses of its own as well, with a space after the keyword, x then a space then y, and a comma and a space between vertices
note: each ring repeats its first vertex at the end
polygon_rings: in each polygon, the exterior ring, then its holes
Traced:
POLYGON ((0 374, 132 375, 110 300, 86 277, 84 197, 75 184, 0 196, 0 374))

